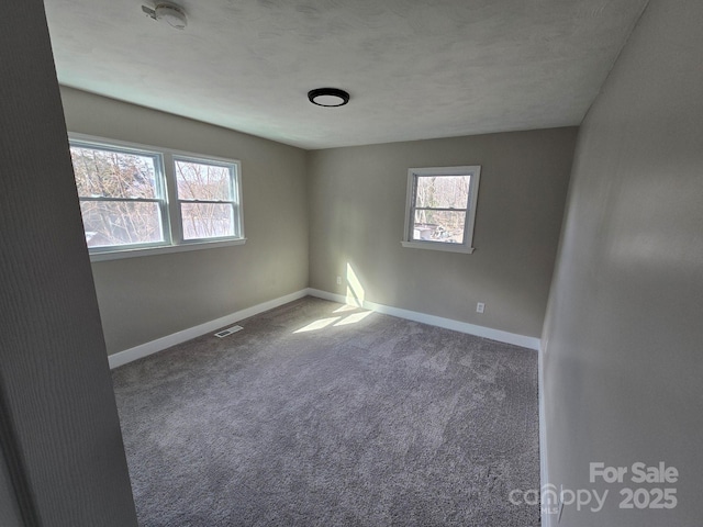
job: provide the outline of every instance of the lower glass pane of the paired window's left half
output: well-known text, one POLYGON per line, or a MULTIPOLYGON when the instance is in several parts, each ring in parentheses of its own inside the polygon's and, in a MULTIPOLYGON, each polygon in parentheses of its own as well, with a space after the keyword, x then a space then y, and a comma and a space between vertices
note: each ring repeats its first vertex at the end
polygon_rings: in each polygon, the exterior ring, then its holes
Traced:
POLYGON ((88 247, 164 242, 158 203, 82 201, 88 247))

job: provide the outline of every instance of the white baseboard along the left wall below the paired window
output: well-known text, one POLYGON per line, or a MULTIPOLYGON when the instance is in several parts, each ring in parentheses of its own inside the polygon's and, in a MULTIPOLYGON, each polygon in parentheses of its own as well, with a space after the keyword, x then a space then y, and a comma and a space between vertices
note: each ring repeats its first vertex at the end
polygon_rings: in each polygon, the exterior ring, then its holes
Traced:
POLYGON ((235 322, 243 321, 244 318, 248 318, 249 316, 258 315, 259 313, 272 310, 274 307, 278 307, 279 305, 283 305, 294 300, 302 299, 303 296, 308 296, 306 289, 287 294, 286 296, 269 300, 268 302, 247 307, 246 310, 237 311, 236 313, 232 313, 214 321, 205 322, 204 324, 200 324, 198 326, 189 327, 188 329, 183 329, 181 332, 157 338, 156 340, 141 344, 138 346, 135 346, 134 348, 119 351, 116 354, 108 356, 110 369, 114 369, 120 366, 126 365, 127 362, 147 357, 149 355, 156 354, 157 351, 161 351, 166 348, 170 348, 171 346, 176 346, 177 344, 181 344, 190 340, 191 338, 204 335, 205 333, 214 332, 215 329, 220 329, 223 326, 234 324, 235 322))

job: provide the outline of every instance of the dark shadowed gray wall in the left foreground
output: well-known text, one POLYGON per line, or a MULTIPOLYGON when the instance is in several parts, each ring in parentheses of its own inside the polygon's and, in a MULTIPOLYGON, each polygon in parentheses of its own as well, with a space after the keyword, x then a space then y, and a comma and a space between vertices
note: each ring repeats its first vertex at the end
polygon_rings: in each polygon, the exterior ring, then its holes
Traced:
POLYGON ((0 49, 1 523, 136 526, 41 0, 0 49))

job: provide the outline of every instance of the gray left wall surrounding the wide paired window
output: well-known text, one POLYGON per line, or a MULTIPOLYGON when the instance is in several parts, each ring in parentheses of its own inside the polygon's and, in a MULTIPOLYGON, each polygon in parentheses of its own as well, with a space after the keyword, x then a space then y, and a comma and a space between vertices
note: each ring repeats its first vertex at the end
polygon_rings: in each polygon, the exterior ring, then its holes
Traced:
POLYGON ((308 287, 304 150, 62 88, 70 132, 239 159, 246 245, 93 262, 108 352, 308 287))

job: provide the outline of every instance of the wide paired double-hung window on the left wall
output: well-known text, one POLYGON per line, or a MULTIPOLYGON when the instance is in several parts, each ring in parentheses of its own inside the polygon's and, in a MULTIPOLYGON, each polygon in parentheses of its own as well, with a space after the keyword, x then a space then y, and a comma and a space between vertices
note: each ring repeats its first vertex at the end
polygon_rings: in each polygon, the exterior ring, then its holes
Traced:
POLYGON ((70 136, 91 259, 245 242, 239 161, 70 136))

